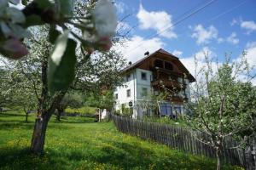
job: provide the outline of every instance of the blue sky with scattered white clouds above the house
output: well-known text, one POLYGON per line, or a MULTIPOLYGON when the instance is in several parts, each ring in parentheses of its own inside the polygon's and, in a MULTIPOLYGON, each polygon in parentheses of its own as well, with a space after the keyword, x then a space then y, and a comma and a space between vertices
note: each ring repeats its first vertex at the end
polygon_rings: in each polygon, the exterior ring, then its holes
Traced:
POLYGON ((248 62, 256 65, 256 0, 216 0, 202 8, 209 2, 116 0, 119 19, 130 15, 119 22, 119 31, 132 28, 121 53, 135 62, 146 51, 164 48, 192 71, 194 55, 201 59, 203 51, 222 61, 224 53, 237 59, 246 49, 248 62), (198 8, 202 10, 176 25, 198 8))

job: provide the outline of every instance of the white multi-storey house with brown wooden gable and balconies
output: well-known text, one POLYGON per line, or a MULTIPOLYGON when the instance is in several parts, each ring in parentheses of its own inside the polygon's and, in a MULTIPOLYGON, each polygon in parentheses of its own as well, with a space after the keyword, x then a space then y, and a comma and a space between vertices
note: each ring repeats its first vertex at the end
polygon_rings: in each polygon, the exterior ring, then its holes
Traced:
POLYGON ((163 49, 145 55, 121 72, 125 83, 113 93, 114 110, 129 111, 133 118, 183 114, 183 104, 190 99, 189 83, 195 78, 176 56, 163 49), (163 97, 155 99, 160 94, 163 97))

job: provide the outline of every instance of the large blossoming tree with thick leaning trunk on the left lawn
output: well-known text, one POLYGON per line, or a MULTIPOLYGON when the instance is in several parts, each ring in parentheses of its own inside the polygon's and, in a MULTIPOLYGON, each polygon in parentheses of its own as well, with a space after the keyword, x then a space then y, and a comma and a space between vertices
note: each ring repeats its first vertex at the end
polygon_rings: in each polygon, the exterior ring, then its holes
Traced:
POLYGON ((31 149, 35 153, 42 153, 49 118, 58 109, 68 90, 76 90, 79 93, 97 92, 99 94, 101 87, 114 87, 115 84, 120 83, 116 77, 119 77, 119 70, 125 61, 113 51, 110 51, 109 54, 97 53, 90 59, 87 58, 88 54, 78 50, 75 81, 70 88, 52 95, 48 88, 47 71, 48 56, 53 47, 48 42, 47 27, 37 28, 32 32, 37 39, 32 38, 27 42, 31 48, 31 53, 18 62, 13 62, 12 65, 14 66, 9 71, 19 73, 18 77, 22 80, 20 83, 24 83, 23 85, 20 84, 20 88, 30 88, 37 99, 38 113, 31 149))

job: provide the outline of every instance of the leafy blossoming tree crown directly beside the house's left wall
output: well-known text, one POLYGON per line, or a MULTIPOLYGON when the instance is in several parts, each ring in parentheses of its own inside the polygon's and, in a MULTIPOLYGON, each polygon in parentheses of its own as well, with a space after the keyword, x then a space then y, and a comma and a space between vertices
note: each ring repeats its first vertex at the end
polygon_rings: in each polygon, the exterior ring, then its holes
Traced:
POLYGON ((96 56, 77 71, 77 77, 86 78, 76 78, 74 84, 77 89, 87 91, 86 105, 97 107, 100 110, 106 109, 109 112, 113 109, 113 90, 124 82, 120 71, 125 68, 127 62, 121 54, 113 50, 102 54, 101 57, 96 56))

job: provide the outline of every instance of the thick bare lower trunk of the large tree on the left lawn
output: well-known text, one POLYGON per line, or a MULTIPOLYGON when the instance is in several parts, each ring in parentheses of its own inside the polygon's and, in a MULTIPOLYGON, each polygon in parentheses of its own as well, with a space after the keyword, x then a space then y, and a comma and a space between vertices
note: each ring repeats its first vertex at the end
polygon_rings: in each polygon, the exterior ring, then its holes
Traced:
POLYGON ((44 139, 46 133, 46 127, 49 122, 49 118, 46 116, 38 116, 34 126, 34 132, 32 135, 31 151, 32 153, 41 155, 44 152, 44 139))

